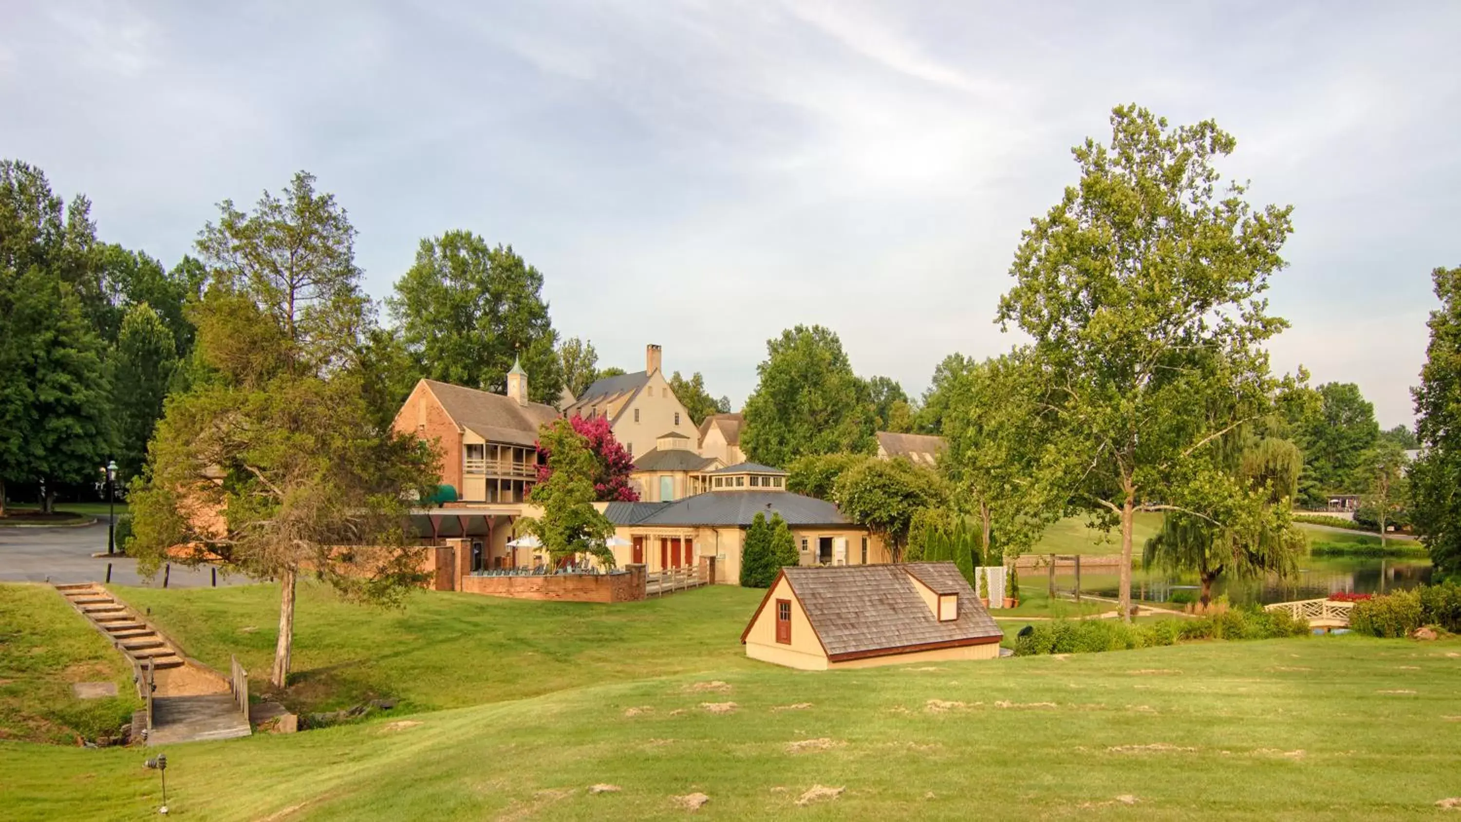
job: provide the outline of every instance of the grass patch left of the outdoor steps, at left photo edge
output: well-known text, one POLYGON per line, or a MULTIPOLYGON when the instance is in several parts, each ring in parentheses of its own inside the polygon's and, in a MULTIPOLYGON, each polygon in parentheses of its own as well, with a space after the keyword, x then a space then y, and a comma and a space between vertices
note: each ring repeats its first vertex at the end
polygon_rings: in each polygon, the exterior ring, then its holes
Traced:
POLYGON ((50 585, 0 584, 0 739, 111 736, 136 694, 131 667, 50 585), (73 682, 112 682, 117 696, 77 699, 73 682))

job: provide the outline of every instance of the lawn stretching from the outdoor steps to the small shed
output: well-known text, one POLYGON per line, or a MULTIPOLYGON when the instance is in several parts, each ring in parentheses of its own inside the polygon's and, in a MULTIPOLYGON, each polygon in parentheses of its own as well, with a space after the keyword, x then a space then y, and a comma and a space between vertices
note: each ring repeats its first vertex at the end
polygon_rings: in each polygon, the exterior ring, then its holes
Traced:
MULTIPOLYGON (((117 596, 190 656, 228 670, 229 654, 267 688, 279 588, 129 588, 117 596)), ((400 711, 522 699, 568 688, 749 663, 739 645, 764 591, 730 585, 641 603, 584 604, 419 591, 403 610, 340 602, 301 584, 285 704, 318 711, 375 696, 400 711)), ((397 712, 400 712, 397 711, 397 712)))

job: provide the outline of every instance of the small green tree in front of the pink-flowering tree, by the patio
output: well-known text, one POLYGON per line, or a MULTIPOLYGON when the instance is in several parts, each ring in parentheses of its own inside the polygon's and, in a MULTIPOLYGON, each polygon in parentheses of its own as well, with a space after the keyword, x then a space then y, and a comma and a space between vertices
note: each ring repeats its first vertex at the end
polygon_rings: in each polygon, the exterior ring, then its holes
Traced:
POLYGON ((519 520, 520 527, 543 543, 554 568, 580 553, 614 568, 614 552, 605 545, 614 536, 614 523, 593 507, 598 460, 587 439, 571 420, 555 419, 539 429, 538 442, 549 454, 549 470, 532 491, 532 501, 543 512, 519 520))

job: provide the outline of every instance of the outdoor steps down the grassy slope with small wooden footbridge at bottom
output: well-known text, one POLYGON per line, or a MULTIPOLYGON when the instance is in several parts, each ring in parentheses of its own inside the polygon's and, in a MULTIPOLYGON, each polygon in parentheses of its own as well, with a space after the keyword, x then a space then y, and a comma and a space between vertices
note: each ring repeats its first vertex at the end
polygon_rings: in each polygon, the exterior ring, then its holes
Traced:
POLYGON ((139 691, 148 688, 150 663, 153 682, 148 704, 148 745, 234 739, 251 733, 248 717, 234 699, 229 682, 188 658, 146 618, 96 583, 57 584, 56 590, 127 657, 137 672, 139 691))

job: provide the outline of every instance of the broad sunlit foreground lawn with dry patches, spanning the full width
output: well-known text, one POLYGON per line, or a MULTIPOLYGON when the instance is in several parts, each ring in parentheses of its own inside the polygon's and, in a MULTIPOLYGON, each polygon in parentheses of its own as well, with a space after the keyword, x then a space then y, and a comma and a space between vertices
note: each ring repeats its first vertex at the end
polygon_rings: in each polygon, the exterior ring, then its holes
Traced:
MULTIPOLYGON (((714 590, 676 599, 720 604, 714 590)), ((1457 641, 668 677, 641 653, 622 660, 640 661, 633 680, 174 746, 169 804, 216 821, 678 819, 672 797, 703 791, 707 819, 1268 821, 1411 818, 1461 796, 1457 641), (590 794, 598 783, 622 790, 590 794), (844 790, 799 807, 815 785, 844 790)), ((0 807, 9 819, 155 818, 158 778, 140 758, 0 743, 0 807)))

